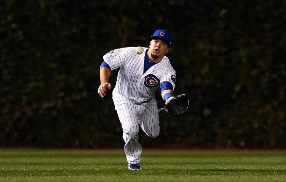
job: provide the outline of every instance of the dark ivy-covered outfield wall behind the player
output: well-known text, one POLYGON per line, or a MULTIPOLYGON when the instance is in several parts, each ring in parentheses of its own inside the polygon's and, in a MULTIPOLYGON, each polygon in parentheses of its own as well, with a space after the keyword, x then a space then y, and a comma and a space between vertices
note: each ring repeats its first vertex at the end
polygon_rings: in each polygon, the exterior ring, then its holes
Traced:
POLYGON ((195 99, 187 116, 160 113, 143 147, 286 147, 285 0, 1 1, 0 146, 122 147, 99 66, 156 29, 172 33, 175 93, 195 99))

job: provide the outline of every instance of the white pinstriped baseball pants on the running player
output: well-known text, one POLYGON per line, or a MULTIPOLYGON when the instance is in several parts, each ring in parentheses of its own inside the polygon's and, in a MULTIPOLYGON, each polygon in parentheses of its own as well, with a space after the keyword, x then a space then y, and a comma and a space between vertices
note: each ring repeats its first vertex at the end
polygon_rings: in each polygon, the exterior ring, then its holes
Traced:
POLYGON ((123 129, 126 160, 132 164, 139 163, 142 152, 138 142, 140 127, 151 138, 156 138, 160 132, 157 102, 154 99, 136 104, 118 94, 113 94, 112 99, 123 129))

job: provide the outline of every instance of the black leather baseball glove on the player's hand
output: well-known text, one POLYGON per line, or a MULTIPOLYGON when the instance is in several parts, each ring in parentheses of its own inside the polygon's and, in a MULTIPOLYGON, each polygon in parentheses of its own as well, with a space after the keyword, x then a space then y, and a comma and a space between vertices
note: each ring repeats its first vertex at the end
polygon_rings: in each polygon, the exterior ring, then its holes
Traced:
POLYGON ((168 103, 164 105, 164 108, 158 110, 165 110, 167 114, 172 116, 182 116, 184 115, 190 107, 190 99, 192 98, 193 93, 181 94, 174 97, 168 103))

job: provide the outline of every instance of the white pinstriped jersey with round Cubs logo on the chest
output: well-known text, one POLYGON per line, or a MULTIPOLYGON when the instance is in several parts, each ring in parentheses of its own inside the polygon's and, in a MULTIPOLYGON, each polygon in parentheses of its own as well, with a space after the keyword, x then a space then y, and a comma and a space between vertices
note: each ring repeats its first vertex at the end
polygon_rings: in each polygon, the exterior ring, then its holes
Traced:
POLYGON ((136 47, 111 50, 103 56, 111 70, 120 68, 113 92, 123 95, 134 103, 144 103, 155 98, 155 91, 162 82, 170 82, 175 88, 176 72, 169 59, 164 56, 161 62, 143 73, 145 52, 137 54, 136 47))

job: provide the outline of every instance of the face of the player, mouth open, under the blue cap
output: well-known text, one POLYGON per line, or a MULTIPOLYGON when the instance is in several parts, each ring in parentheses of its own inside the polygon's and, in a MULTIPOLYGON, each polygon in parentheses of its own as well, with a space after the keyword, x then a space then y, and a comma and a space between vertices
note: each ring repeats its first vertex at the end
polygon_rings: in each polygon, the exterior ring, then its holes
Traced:
POLYGON ((160 39, 152 39, 149 48, 151 50, 151 56, 154 59, 163 57, 170 50, 168 45, 160 39))

